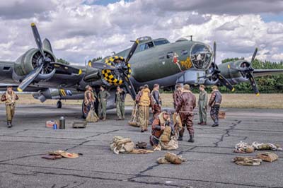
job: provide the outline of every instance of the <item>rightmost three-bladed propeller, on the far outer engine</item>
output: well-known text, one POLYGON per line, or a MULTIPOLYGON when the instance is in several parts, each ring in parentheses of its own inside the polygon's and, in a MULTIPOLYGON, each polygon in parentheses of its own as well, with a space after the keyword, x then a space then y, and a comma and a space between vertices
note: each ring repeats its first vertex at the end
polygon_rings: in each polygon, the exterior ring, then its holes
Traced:
MULTIPOLYGON (((255 52, 253 52, 253 57, 252 59, 250 60, 250 65, 253 64, 253 61, 255 61, 255 56, 256 54, 258 53, 258 48, 255 48, 255 52)), ((241 73, 243 75, 245 75, 248 80, 250 81, 250 86, 252 86, 253 88, 253 91, 255 92, 255 95, 260 95, 260 92, 258 90, 258 86, 255 82, 255 78, 253 77, 253 71, 255 69, 253 69, 252 66, 246 66, 246 67, 233 67, 233 66, 228 66, 229 69, 234 69, 234 70, 237 70, 237 71, 241 71, 241 73)))

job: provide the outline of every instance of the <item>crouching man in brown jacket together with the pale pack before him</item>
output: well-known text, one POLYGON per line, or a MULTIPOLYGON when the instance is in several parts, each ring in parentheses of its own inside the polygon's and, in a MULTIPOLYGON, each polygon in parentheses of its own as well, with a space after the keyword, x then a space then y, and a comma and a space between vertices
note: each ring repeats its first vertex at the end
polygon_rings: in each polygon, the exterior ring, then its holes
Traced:
POLYGON ((152 131, 151 136, 149 137, 149 141, 151 143, 151 146, 154 146, 154 149, 158 147, 160 147, 159 149, 161 149, 161 147, 163 149, 175 149, 175 146, 171 146, 170 143, 171 136, 174 135, 174 128, 171 127, 170 124, 170 115, 171 112, 169 110, 163 110, 163 112, 158 114, 158 117, 156 117, 154 119, 154 122, 152 123, 152 131), (164 145, 162 143, 166 144, 164 145))

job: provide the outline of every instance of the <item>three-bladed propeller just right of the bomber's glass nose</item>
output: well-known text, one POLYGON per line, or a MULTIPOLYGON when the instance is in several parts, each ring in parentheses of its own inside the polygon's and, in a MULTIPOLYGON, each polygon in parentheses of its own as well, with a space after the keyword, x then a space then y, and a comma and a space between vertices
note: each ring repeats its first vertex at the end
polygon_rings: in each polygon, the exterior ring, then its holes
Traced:
POLYGON ((214 65, 212 65, 213 69, 210 74, 207 74, 205 76, 201 76, 199 78, 215 78, 218 79, 222 86, 226 86, 226 88, 229 88, 229 90, 234 91, 235 88, 232 86, 232 84, 221 74, 221 71, 219 71, 218 66, 216 66, 216 42, 213 43, 213 61, 214 65))

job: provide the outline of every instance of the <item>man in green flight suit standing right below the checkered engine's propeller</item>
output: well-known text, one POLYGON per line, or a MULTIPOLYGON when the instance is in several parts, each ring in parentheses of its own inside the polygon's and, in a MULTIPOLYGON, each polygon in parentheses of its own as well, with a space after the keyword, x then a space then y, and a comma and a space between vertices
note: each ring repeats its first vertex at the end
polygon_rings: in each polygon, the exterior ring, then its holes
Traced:
POLYGON ((125 119, 125 98, 126 92, 119 86, 117 86, 117 91, 115 94, 115 105, 117 111, 117 120, 124 120, 125 119))

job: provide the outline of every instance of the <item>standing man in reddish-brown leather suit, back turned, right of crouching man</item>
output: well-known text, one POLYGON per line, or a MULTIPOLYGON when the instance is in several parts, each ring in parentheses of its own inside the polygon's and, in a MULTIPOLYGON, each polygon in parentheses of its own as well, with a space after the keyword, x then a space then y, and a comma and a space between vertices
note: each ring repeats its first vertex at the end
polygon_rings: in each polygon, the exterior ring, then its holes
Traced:
POLYGON ((178 141, 183 141, 183 134, 185 131, 185 126, 187 126, 187 131, 189 131, 190 139, 188 142, 194 142, 194 128, 192 127, 194 119, 194 112, 196 106, 195 95, 190 91, 190 86, 185 84, 183 93, 181 95, 180 103, 178 103, 176 108, 176 114, 180 113, 183 128, 179 132, 178 141))

